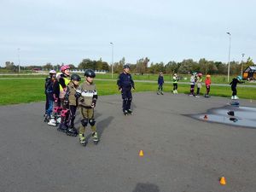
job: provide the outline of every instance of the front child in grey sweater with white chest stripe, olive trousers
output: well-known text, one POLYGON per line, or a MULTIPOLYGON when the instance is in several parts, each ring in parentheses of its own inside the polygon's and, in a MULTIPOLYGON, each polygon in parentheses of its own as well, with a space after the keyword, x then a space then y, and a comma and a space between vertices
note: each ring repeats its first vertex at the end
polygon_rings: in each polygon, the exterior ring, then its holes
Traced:
POLYGON ((92 137, 94 143, 98 143, 99 138, 96 131, 96 121, 94 119, 94 108, 96 107, 97 101, 97 90, 96 85, 93 83, 93 79, 96 74, 93 70, 87 69, 84 73, 85 81, 79 85, 79 89, 76 91, 76 98, 79 102, 80 112, 83 117, 81 120, 81 126, 79 128, 79 142, 85 146, 87 141, 84 137, 85 128, 90 124, 92 131, 92 137))

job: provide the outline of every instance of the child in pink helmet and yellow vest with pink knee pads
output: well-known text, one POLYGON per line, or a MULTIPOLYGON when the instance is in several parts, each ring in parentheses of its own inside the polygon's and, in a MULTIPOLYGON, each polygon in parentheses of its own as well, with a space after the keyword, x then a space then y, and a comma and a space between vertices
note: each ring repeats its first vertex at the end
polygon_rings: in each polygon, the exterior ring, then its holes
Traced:
POLYGON ((67 85, 70 82, 70 67, 68 65, 61 66, 61 74, 57 77, 60 85, 60 101, 61 101, 61 124, 58 127, 58 131, 67 132, 68 127, 68 105, 64 103, 64 96, 66 94, 67 85))

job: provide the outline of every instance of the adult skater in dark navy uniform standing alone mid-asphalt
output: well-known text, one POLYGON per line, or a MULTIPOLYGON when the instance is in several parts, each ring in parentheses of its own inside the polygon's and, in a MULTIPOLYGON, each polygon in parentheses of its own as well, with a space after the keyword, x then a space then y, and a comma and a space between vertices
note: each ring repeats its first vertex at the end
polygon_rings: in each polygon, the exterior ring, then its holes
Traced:
POLYGON ((128 113, 132 113, 132 111, 131 111, 131 100, 132 100, 131 88, 134 90, 135 90, 135 88, 134 88, 134 82, 131 78, 129 65, 127 65, 127 64, 124 65, 123 73, 121 73, 119 75, 117 84, 119 86, 119 91, 121 91, 121 93, 122 93, 124 114, 127 115, 128 113))

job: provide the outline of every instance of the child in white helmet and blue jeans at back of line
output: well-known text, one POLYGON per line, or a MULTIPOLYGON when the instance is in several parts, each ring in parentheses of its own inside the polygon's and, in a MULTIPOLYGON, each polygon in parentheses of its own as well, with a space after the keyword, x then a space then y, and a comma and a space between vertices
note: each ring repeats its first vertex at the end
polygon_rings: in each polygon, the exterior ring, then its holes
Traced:
POLYGON ((52 113, 53 109, 53 84, 55 82, 55 70, 49 71, 49 77, 45 79, 45 94, 46 94, 46 115, 44 122, 49 122, 50 114, 52 113))

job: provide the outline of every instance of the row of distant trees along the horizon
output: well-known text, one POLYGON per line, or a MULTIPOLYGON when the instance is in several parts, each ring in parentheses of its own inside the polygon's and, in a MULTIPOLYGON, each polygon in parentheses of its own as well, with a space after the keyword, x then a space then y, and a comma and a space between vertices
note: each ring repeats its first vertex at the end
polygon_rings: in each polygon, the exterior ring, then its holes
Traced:
MULTIPOLYGON (((149 63, 148 57, 141 58, 137 60, 136 63, 131 63, 131 72, 132 73, 191 73, 191 72, 201 72, 204 74, 226 74, 228 73, 228 65, 227 63, 221 61, 208 61, 207 59, 200 59, 199 61, 194 61, 192 59, 185 59, 181 62, 169 61, 167 63, 164 62, 151 62, 149 63)), ((120 73, 123 71, 123 66, 125 65, 125 57, 123 57, 120 61, 113 63, 113 73, 120 73)), ((20 66, 21 71, 26 70, 50 70, 55 69, 56 71, 60 70, 62 64, 52 65, 51 63, 46 63, 44 66, 20 66)), ((239 62, 239 61, 230 61, 230 75, 240 74, 241 69, 246 69, 247 67, 253 66, 253 60, 249 57, 247 61, 239 62)), ((107 72, 112 71, 112 65, 107 61, 102 61, 102 58, 99 60, 90 60, 83 59, 78 67, 73 64, 69 64, 71 69, 86 69, 91 68, 93 70, 104 70, 107 72)), ((6 61, 5 67, 1 67, 2 71, 5 70, 7 72, 17 73, 19 71, 19 66, 15 65, 14 62, 6 61)))

